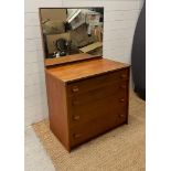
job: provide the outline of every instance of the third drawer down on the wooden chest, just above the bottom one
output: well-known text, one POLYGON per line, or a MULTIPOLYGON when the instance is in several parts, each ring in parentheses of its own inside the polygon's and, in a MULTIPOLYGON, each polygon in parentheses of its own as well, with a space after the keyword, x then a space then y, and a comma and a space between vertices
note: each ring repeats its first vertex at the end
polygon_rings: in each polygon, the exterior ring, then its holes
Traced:
MULTIPOLYGON (((100 94, 100 93, 99 93, 100 94)), ((98 93, 95 97, 97 97, 98 93)), ((87 96, 87 95, 85 95, 87 96)), ((127 90, 116 92, 108 96, 88 101, 84 97, 79 100, 71 101, 70 108, 70 126, 78 126, 89 120, 94 120, 100 116, 114 116, 117 113, 127 110, 127 90)))

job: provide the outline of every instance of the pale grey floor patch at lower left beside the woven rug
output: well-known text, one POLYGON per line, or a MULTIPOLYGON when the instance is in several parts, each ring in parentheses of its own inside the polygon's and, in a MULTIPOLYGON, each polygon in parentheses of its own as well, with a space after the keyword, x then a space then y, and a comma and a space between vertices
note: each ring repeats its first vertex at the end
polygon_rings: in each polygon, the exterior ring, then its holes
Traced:
POLYGON ((25 171, 55 171, 31 126, 25 128, 25 171))

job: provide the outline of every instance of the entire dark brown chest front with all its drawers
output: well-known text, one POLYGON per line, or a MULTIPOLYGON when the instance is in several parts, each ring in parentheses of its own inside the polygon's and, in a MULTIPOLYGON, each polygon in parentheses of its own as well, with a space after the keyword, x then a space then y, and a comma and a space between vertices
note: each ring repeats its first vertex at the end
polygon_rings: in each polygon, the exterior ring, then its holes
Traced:
POLYGON ((68 84, 72 148, 109 129, 128 124, 128 84, 129 68, 68 84), (77 87, 77 90, 72 92, 71 87, 77 87))

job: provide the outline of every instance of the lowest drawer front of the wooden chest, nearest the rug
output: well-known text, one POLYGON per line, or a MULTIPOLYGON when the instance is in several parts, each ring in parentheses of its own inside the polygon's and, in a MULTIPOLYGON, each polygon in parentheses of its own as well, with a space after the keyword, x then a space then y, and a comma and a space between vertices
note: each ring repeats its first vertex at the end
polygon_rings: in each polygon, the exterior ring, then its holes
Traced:
POLYGON ((111 128, 127 122, 126 110, 118 110, 114 115, 100 116, 98 119, 74 127, 71 130, 71 146, 75 147, 111 128))

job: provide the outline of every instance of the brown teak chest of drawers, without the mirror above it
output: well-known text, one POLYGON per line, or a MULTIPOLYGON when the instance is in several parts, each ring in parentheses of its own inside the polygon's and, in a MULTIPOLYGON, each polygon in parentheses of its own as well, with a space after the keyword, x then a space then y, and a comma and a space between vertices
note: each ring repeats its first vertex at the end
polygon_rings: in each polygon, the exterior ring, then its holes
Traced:
POLYGON ((128 122, 129 65, 97 57, 45 75, 50 128, 68 151, 128 122))

